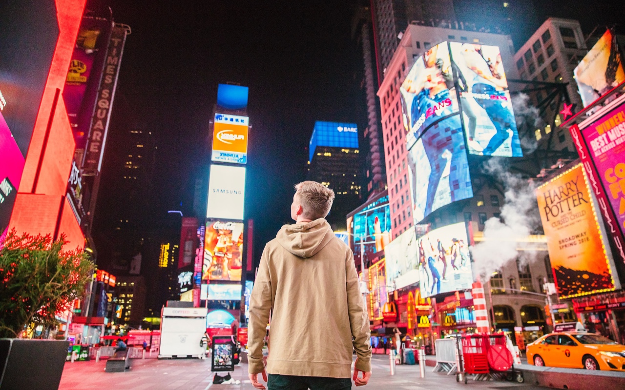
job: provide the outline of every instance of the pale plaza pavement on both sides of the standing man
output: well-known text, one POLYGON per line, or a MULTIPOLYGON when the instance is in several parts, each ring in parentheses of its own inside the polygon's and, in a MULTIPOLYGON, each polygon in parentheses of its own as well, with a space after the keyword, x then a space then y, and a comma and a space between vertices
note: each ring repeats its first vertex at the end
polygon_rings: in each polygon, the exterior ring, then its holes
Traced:
MULTIPOLYGON (((252 390, 247 379, 247 364, 241 363, 232 378, 241 384, 212 384, 211 362, 209 359, 133 359, 130 371, 126 373, 105 373, 106 360, 66 363, 61 378, 60 390, 252 390)), ((512 382, 457 383, 455 376, 432 373, 426 368, 426 378, 419 378, 419 366, 396 366, 396 374, 390 375, 389 358, 374 355, 372 376, 362 390, 439 390, 444 389, 498 389, 498 390, 544 390, 529 384, 512 382)), ((222 374, 223 375, 223 374, 222 374)), ((352 386, 356 389, 356 386, 352 386)))

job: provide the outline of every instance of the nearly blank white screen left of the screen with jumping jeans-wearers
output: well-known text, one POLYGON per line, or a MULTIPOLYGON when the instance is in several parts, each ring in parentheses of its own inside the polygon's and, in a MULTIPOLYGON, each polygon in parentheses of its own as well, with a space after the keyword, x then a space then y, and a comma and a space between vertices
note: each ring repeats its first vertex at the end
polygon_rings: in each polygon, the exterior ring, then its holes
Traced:
POLYGON ((417 238, 414 226, 401 233, 384 248, 386 290, 390 293, 419 281, 417 238))

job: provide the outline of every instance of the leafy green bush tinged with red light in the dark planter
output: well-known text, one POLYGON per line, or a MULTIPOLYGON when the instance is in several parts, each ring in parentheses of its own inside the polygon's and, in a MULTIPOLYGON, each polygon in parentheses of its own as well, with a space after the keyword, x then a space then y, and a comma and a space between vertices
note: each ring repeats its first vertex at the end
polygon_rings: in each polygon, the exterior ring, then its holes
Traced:
POLYGON ((54 314, 83 294, 94 264, 83 250, 64 250, 67 243, 14 229, 0 243, 0 338, 57 324, 54 314))

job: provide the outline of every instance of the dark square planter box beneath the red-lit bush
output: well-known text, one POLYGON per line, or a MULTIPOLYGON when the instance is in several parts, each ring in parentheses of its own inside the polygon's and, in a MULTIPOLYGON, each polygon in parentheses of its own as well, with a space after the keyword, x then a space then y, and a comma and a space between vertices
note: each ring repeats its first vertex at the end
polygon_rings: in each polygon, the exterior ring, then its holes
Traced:
POLYGON ((0 339, 0 390, 58 390, 69 342, 0 339))

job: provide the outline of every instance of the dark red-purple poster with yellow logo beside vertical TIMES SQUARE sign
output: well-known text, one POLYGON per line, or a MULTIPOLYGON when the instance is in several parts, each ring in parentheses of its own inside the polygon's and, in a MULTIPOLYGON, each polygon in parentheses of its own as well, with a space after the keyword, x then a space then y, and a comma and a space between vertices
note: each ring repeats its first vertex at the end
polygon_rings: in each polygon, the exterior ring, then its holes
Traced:
POLYGON ((69 63, 63 102, 68 110, 76 149, 84 150, 86 144, 110 31, 111 21, 83 18, 69 63))

